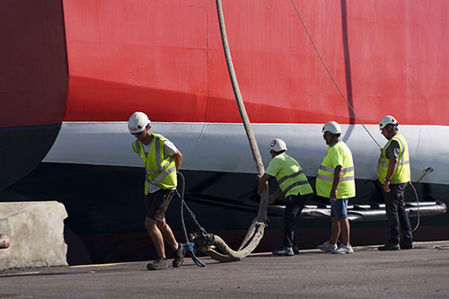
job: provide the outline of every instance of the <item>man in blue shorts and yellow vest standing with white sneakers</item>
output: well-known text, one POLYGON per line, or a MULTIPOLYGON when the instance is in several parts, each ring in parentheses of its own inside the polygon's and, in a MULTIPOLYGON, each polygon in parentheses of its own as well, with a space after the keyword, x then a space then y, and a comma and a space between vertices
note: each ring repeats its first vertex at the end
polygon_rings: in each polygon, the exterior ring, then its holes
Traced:
POLYGON ((348 198, 356 196, 354 163, 348 145, 340 140, 341 128, 330 121, 322 128, 328 152, 322 160, 316 177, 317 195, 329 198, 332 230, 330 240, 318 246, 321 251, 352 253, 349 242, 348 198), (341 243, 337 247, 339 235, 341 243))

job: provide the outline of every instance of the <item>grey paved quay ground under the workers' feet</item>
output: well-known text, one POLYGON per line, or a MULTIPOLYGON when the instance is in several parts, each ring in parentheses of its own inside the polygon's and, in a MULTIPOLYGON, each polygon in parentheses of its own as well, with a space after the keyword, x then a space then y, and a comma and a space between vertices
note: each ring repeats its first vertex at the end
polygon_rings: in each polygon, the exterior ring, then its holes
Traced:
POLYGON ((420 298, 449 297, 449 241, 410 251, 256 254, 239 262, 191 259, 147 271, 145 262, 0 273, 0 298, 420 298))

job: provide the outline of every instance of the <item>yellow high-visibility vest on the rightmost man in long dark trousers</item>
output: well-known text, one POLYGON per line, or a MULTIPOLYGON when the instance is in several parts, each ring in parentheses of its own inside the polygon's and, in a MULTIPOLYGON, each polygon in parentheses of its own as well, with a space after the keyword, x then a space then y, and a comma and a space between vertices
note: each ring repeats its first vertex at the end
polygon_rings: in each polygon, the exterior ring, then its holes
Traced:
POLYGON ((399 144, 399 156, 398 156, 398 167, 392 178, 390 179, 390 183, 392 184, 401 184, 410 181, 410 163, 409 163, 409 145, 407 145, 407 141, 405 141, 404 136, 400 133, 396 133, 395 136, 392 137, 381 150, 381 156, 379 161, 377 162, 377 177, 379 181, 383 183, 388 171, 388 164, 390 163, 390 159, 387 159, 386 152, 388 146, 392 144, 392 141, 395 140, 399 144))

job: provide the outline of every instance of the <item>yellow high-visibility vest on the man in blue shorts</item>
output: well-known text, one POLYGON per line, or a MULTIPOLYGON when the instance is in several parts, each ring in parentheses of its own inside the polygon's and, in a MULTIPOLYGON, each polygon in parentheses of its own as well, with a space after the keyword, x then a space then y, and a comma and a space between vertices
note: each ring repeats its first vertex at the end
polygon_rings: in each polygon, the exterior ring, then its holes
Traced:
POLYGON ((328 152, 318 169, 316 194, 324 198, 330 198, 334 171, 335 167, 338 166, 338 161, 333 161, 335 154, 341 156, 343 161, 343 165, 341 165, 343 173, 337 189, 337 198, 354 198, 356 196, 354 162, 352 160, 351 150, 343 141, 339 141, 333 146, 328 146, 328 152))

